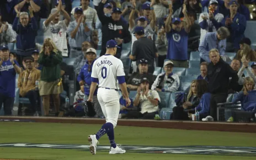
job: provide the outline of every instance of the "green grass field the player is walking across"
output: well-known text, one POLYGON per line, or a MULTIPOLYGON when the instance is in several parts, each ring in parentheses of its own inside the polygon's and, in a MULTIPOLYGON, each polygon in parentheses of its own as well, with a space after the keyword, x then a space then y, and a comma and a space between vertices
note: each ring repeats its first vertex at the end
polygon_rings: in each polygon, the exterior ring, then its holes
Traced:
MULTIPOLYGON (((35 122, 0 122, 0 143, 52 143, 88 145, 87 136, 101 125, 51 124, 35 122)), ((115 141, 122 145, 145 146, 245 146, 255 147, 256 134, 215 131, 155 129, 117 126, 115 141)), ((109 145, 108 137, 100 139, 109 145)), ((49 148, 0 147, 1 158, 20 159, 255 159, 255 157, 207 156, 185 154, 129 153, 109 155, 108 150, 92 156, 88 151, 49 148)))

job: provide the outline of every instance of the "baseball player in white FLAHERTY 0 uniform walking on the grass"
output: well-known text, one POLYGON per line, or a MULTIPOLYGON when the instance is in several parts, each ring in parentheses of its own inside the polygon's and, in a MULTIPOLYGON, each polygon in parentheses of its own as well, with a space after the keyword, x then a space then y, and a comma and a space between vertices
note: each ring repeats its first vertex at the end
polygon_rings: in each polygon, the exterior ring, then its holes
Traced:
POLYGON ((106 54, 99 57, 93 63, 92 84, 90 86, 88 101, 92 102, 94 90, 97 83, 99 83, 97 97, 106 118, 106 123, 97 132, 97 134, 88 136, 90 152, 92 154, 96 154, 98 140, 105 134, 108 135, 109 142, 111 144, 109 154, 125 153, 125 150, 116 146, 114 138, 114 128, 118 122, 120 110, 118 93, 119 87, 125 95, 126 106, 131 104, 131 100, 126 88, 124 66, 122 65, 121 60, 114 57, 117 48, 117 42, 115 40, 109 40, 106 42, 106 54))

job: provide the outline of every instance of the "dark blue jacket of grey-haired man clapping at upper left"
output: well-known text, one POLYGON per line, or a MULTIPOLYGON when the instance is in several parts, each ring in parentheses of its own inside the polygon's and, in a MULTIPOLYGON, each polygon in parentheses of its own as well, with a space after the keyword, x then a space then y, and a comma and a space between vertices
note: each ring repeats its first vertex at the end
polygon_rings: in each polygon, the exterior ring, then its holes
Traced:
POLYGON ((17 54, 30 56, 33 50, 35 50, 35 37, 38 31, 35 17, 31 18, 31 23, 25 27, 19 23, 19 18, 16 17, 13 22, 13 30, 18 34, 16 43, 17 54))

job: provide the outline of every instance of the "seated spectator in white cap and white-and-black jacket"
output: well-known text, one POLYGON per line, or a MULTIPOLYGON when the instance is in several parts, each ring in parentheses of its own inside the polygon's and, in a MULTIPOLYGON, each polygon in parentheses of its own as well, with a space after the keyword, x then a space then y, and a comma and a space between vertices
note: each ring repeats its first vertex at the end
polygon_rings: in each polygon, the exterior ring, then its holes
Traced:
POLYGON ((164 73, 158 74, 151 89, 158 92, 176 92, 179 89, 179 76, 173 73, 173 62, 164 62, 164 73))

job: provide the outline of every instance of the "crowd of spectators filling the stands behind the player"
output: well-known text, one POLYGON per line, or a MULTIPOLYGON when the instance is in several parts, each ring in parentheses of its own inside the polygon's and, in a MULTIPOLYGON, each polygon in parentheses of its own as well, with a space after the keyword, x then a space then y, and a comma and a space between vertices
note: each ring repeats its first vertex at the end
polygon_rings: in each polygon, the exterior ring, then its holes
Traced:
MULTIPOLYGON (((217 120, 218 103, 231 95, 239 111, 256 113, 255 44, 244 36, 255 10, 240 0, 3 0, 0 110, 12 115, 15 99, 25 98, 19 114, 85 116, 79 103, 88 99, 93 63, 113 39, 133 93, 130 106, 120 93, 119 118, 158 119, 170 108, 171 120, 196 111, 217 120)), ((97 89, 93 102, 102 118, 97 89)))

